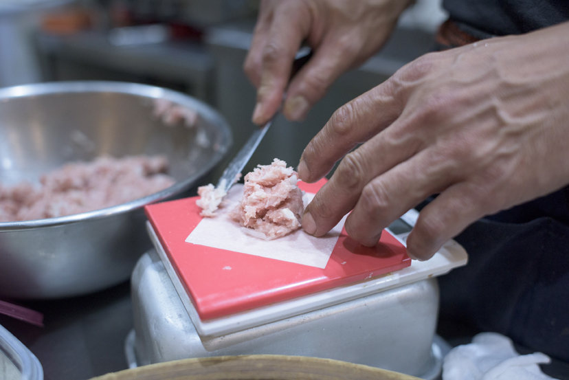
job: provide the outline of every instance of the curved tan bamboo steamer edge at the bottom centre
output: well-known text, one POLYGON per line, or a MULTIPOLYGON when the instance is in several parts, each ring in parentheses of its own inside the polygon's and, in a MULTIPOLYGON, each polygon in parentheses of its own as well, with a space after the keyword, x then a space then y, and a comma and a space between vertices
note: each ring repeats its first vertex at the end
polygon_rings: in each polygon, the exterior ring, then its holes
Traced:
POLYGON ((182 359, 109 373, 91 380, 419 380, 346 361, 285 355, 182 359))

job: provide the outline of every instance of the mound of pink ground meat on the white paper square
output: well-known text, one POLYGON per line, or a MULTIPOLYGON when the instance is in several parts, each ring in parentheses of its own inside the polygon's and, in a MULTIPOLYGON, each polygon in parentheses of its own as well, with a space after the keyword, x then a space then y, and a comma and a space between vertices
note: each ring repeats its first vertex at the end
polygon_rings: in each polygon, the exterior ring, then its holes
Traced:
POLYGON ((297 182, 297 173, 285 161, 259 165, 245 176, 243 199, 231 216, 247 233, 267 240, 298 230, 304 204, 297 182))

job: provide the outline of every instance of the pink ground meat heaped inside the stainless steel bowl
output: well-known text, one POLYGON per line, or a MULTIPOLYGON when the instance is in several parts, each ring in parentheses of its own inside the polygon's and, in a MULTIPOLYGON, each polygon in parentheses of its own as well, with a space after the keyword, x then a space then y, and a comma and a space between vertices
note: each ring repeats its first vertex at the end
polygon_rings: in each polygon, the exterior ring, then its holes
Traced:
POLYGON ((40 186, 0 184, 0 222, 79 214, 146 197, 175 183, 167 169, 162 156, 99 157, 49 172, 40 186))

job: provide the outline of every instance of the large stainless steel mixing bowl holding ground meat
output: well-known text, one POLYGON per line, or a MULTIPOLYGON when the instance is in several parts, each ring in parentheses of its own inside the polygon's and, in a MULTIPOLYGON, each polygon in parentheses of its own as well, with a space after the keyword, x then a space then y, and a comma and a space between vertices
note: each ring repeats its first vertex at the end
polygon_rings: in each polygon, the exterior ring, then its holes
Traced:
POLYGON ((61 298, 127 280, 150 247, 142 207, 180 197, 222 159, 231 142, 219 113, 168 89, 120 82, 0 89, 0 183, 37 181, 67 161, 140 154, 166 155, 169 174, 177 180, 166 190, 111 208, 0 223, 0 295, 61 298), (159 98, 196 110, 197 128, 157 120, 153 100, 159 98))

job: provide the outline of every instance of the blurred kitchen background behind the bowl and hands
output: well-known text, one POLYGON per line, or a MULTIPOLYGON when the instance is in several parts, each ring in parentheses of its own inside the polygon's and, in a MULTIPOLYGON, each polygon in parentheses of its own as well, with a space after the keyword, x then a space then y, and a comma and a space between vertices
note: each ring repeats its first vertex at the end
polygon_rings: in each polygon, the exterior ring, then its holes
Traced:
MULTIPOLYGON (((182 91, 232 126, 227 162, 255 128, 242 65, 257 12, 254 0, 0 0, 0 87, 118 80, 182 91)), ((246 170, 274 157, 296 166, 335 109, 429 52, 444 19, 438 0, 416 1, 381 52, 337 80, 304 122, 279 117, 246 170)))

